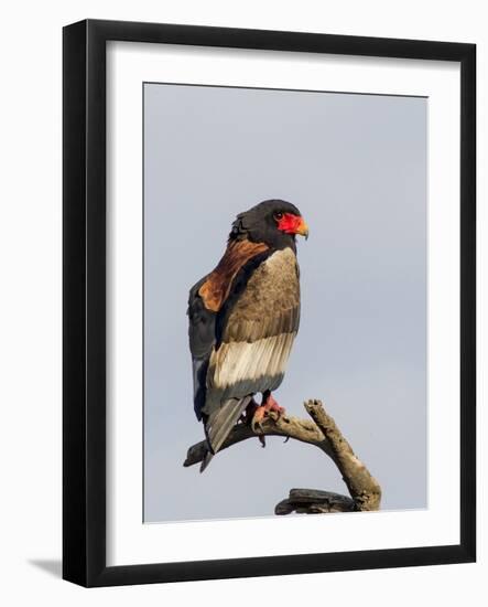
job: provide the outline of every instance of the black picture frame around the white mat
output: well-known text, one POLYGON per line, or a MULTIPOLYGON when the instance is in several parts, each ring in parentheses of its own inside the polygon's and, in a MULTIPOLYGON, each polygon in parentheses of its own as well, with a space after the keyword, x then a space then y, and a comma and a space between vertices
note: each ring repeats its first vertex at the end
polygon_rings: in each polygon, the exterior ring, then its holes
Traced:
POLYGON ((476 46, 86 20, 63 32, 63 577, 113 586, 476 560, 476 46), (460 64, 460 541, 458 545, 106 565, 106 43, 442 60, 460 64))

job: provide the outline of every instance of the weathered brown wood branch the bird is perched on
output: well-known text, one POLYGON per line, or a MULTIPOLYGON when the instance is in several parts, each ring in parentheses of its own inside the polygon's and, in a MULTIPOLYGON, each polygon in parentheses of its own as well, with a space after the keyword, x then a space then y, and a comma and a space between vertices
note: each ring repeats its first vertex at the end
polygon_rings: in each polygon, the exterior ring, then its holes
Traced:
MULTIPOLYGON (((290 496, 276 504, 275 514, 379 510, 380 484, 355 455, 334 419, 325 412, 321 401, 307 401, 304 406, 312 420, 293 416, 276 417, 270 414, 263 419, 258 432, 254 432, 249 424, 237 424, 219 452, 257 436, 284 436, 315 445, 333 459, 349 490, 350 498, 316 489, 291 489, 290 496)), ((188 449, 183 466, 188 467, 200 462, 207 450, 205 440, 193 445, 188 449)))

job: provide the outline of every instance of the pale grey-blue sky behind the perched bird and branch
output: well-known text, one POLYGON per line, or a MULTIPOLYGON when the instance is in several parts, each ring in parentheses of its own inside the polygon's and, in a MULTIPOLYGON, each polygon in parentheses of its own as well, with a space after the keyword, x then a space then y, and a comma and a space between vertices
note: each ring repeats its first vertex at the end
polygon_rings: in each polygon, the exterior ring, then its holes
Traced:
POLYGON ((248 440, 200 475, 186 302, 240 211, 289 200, 302 319, 274 394, 322 398, 383 489, 426 504, 426 107, 413 97, 144 86, 144 520, 273 515, 292 487, 347 493, 316 448, 248 440))

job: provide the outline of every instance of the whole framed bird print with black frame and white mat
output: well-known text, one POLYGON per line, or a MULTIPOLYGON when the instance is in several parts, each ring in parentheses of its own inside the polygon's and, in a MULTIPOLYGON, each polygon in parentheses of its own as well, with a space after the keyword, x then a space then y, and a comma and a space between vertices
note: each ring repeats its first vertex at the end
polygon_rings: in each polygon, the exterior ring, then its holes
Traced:
POLYGON ((65 579, 475 560, 475 72, 64 29, 65 579))

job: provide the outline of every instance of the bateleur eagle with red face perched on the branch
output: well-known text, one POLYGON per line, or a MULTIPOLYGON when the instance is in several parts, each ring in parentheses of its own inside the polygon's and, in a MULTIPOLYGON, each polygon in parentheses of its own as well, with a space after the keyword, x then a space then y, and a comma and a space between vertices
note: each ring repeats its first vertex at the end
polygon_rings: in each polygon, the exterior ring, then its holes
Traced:
POLYGON ((299 330, 296 234, 308 228, 290 202, 267 200, 240 213, 223 258, 189 291, 194 407, 209 449, 200 471, 245 412, 253 425, 268 411, 283 412, 271 392, 299 330))

